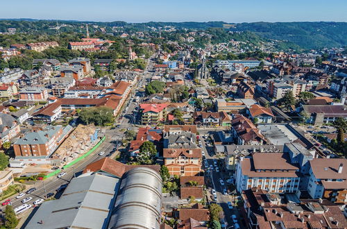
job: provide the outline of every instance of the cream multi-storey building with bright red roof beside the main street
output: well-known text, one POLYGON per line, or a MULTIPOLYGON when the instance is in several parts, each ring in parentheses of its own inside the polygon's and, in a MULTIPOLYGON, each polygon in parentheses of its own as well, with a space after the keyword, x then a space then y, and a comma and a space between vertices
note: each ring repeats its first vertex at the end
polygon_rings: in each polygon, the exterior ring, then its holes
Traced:
POLYGON ((164 120, 166 115, 167 104, 161 103, 143 103, 139 105, 141 112, 142 125, 156 126, 160 121, 164 120))

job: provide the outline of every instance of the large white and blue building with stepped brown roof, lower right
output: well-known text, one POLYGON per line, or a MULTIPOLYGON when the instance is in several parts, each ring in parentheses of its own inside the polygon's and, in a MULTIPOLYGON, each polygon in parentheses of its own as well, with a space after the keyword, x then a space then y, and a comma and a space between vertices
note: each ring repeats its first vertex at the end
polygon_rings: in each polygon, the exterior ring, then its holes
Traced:
POLYGON ((254 153, 239 160, 235 183, 238 192, 257 187, 273 193, 296 193, 299 168, 289 162, 287 153, 254 153))

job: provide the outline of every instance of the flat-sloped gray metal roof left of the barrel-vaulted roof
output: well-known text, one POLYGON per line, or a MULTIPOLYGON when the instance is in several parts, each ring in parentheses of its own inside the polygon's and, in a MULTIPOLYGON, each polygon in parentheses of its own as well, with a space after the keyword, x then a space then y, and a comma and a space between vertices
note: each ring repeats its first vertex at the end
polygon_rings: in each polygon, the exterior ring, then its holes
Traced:
POLYGON ((42 203, 26 228, 106 228, 118 187, 118 178, 99 173, 74 178, 60 199, 42 203))

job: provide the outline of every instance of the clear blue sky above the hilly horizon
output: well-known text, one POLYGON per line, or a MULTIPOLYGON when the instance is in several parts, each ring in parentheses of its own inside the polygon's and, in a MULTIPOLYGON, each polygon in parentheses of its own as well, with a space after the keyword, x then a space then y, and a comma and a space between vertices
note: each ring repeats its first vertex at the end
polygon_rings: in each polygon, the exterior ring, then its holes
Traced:
POLYGON ((1 0, 0 18, 95 22, 347 22, 346 0, 1 0))

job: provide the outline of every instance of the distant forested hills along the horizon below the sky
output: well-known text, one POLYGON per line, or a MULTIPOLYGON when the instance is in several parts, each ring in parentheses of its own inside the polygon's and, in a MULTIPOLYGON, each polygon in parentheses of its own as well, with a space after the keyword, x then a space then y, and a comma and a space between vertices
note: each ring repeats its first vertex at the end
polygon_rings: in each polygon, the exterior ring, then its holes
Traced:
MULTIPOLYGON (((131 31, 149 30, 149 27, 174 26, 178 29, 205 30, 208 28, 224 28, 226 31, 247 32, 249 37, 257 40, 277 40, 279 50, 285 49, 320 49, 323 47, 347 46, 346 22, 253 22, 230 24, 226 22, 79 22, 68 20, 37 20, 37 19, 0 19, 0 32, 8 28, 17 28, 18 32, 48 33, 56 31, 49 29, 59 24, 69 24, 60 28, 61 32, 84 33, 81 25, 97 24, 112 33, 113 26, 123 26, 131 31)), ((94 28, 90 28, 92 33, 94 28)))

